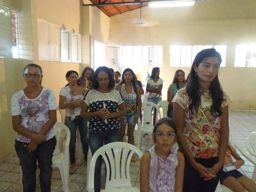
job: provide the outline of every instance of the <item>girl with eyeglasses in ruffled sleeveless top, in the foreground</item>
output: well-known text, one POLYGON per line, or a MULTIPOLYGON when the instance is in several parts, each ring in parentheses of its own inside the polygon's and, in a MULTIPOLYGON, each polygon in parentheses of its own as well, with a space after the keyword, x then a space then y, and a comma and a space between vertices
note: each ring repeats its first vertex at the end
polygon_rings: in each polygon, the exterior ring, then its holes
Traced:
POLYGON ((141 192, 182 192, 184 156, 174 147, 176 126, 170 118, 154 125, 155 145, 140 160, 141 192))

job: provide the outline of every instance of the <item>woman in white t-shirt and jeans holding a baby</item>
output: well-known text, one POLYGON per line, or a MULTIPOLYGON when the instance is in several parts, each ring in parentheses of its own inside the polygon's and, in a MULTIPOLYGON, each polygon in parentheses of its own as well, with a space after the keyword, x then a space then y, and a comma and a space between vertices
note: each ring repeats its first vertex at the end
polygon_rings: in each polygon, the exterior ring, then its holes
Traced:
POLYGON ((72 98, 72 93, 70 89, 76 86, 76 80, 78 78, 78 72, 68 71, 66 73, 66 80, 68 84, 60 90, 60 101, 59 108, 66 109, 65 125, 68 126, 70 130, 70 144, 69 144, 69 156, 70 156, 70 173, 74 173, 74 168, 76 164, 75 149, 76 149, 76 129, 79 129, 80 139, 82 142, 82 147, 84 151, 84 160, 87 161, 88 154, 88 128, 87 119, 81 118, 80 111, 82 102, 79 100, 70 101, 72 98), (70 108, 74 108, 75 119, 71 120, 70 108))

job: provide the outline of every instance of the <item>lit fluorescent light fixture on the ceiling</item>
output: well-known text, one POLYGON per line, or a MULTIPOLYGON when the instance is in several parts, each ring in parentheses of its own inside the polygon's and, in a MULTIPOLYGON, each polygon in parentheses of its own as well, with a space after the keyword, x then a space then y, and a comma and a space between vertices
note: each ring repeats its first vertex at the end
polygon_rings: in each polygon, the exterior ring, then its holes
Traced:
POLYGON ((184 7, 193 6, 194 4, 195 0, 171 0, 148 2, 149 7, 184 7))

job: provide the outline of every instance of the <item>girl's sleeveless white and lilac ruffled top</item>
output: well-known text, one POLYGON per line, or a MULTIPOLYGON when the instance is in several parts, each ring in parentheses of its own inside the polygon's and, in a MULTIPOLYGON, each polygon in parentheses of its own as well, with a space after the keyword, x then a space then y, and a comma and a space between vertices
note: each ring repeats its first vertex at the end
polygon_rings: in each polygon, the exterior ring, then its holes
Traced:
POLYGON ((166 159, 160 158, 155 152, 155 145, 149 150, 151 160, 149 167, 150 192, 174 192, 175 174, 178 165, 177 149, 172 148, 166 159))

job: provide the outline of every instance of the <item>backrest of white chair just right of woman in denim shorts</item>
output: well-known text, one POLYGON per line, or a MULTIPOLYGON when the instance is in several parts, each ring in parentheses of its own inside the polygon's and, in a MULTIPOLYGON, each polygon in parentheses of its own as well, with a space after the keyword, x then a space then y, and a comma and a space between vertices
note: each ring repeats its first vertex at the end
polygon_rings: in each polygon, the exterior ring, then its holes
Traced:
POLYGON ((142 102, 143 126, 153 126, 152 109, 156 108, 156 121, 158 120, 159 107, 152 102, 142 102))

